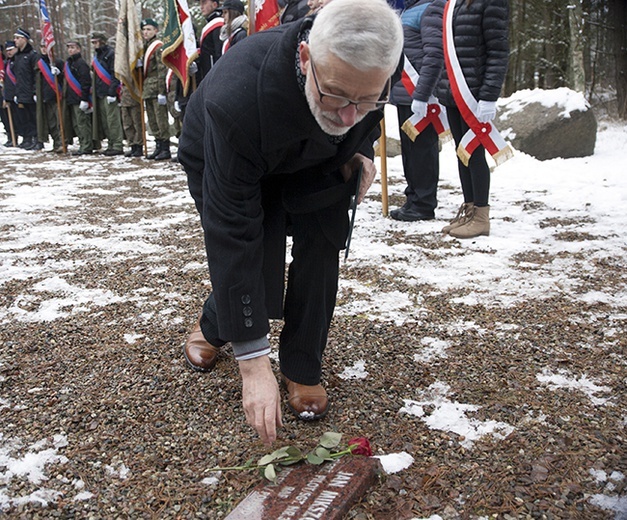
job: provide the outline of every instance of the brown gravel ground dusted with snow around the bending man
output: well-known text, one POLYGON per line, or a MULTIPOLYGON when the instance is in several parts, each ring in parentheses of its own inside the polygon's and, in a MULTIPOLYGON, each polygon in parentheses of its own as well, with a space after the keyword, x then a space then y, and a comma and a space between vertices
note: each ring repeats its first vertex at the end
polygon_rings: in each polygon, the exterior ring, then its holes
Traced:
MULTIPOLYGON (((215 476, 208 469, 268 450, 245 424, 230 351, 211 374, 190 371, 181 355, 209 290, 181 169, 5 152, 0 181, 0 265, 9 270, 0 286, 0 516, 223 518, 259 476, 226 472, 206 480, 215 476), (30 190, 30 200, 13 200, 18 188, 30 190), (45 449, 40 475, 7 470, 7 457, 45 449)), ((402 188, 400 178, 391 179, 392 207, 402 202, 402 188)), ((440 197, 457 200, 456 190, 443 183, 440 197)), ((370 201, 376 198, 375 191, 370 201)), ((560 233, 564 241, 594 239, 568 226, 560 233)), ((418 232, 406 247, 428 257, 455 242, 418 232)), ((489 260, 488 247, 483 254, 489 260)), ((536 248, 512 263, 533 278, 554 260, 536 248)), ((625 267, 624 256, 610 256, 568 275, 582 291, 611 293, 624 287, 625 267)), ((337 430, 368 437, 378 454, 414 457, 407 469, 383 475, 349 518, 616 517, 590 498, 624 500, 627 493, 620 478, 627 474, 624 305, 586 304, 568 292, 506 309, 468 305, 459 291, 436 293, 377 263, 349 261, 341 276, 420 300, 428 318, 397 323, 338 312, 325 358, 332 411, 319 423, 285 415, 278 445, 306 449, 337 430), (464 323, 474 326, 455 326, 464 323), (446 356, 416 362, 424 337, 446 341, 446 356), (367 378, 339 377, 359 359, 368 362, 367 378), (611 392, 595 395, 609 402, 539 387, 547 367, 602 382, 611 392), (513 431, 469 445, 399 412, 437 381, 448 382, 455 402, 479 407, 469 412, 474 419, 513 431)), ((343 285, 340 308, 358 297, 343 285)), ((273 323, 275 345, 279 330, 273 323)))

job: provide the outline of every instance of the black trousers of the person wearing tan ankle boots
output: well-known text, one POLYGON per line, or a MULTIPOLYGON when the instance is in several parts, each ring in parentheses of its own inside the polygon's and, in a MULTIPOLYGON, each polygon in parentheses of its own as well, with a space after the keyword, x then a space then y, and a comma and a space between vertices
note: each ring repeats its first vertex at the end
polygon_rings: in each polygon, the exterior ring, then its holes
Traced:
MULTIPOLYGON (((468 125, 457 107, 446 107, 446 114, 451 133, 455 141, 455 149, 468 131, 468 125)), ((478 146, 470 156, 468 166, 457 159, 459 180, 462 184, 464 202, 474 202, 475 206, 487 206, 490 196, 490 168, 485 158, 485 148, 478 146)))

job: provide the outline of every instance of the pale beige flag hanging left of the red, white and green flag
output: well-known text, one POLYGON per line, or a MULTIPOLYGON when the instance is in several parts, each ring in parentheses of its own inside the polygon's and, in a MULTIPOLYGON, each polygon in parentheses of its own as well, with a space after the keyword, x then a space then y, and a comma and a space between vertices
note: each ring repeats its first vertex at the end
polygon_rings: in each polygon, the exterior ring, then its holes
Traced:
POLYGON ((137 61, 144 54, 139 17, 134 0, 120 1, 118 29, 115 37, 114 72, 131 96, 141 100, 137 61))

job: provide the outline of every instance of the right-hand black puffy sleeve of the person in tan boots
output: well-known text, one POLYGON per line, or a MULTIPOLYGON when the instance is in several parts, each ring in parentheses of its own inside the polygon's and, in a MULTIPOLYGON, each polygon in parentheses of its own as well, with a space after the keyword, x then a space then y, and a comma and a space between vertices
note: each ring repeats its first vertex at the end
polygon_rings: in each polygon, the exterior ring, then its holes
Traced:
POLYGON ((505 81, 509 57, 509 11, 507 0, 486 4, 483 15, 486 62, 478 100, 496 101, 505 81))

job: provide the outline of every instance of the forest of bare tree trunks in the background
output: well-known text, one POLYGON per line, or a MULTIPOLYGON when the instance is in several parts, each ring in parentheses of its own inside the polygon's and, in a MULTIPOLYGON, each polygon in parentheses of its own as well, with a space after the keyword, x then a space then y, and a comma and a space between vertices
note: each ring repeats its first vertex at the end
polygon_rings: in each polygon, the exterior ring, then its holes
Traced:
MULTIPOLYGON (((204 20, 197 0, 188 0, 195 27, 204 20)), ((245 2, 246 3, 246 2, 245 2)), ((65 42, 83 43, 91 59, 93 31, 116 34, 119 0, 47 0, 57 45, 64 59, 65 42)), ((141 18, 163 20, 165 0, 137 3, 141 18)), ((35 44, 39 32, 38 0, 0 0, 2 42, 17 27, 28 30, 35 44)), ((568 87, 582 92, 591 105, 612 118, 627 119, 627 1, 511 0, 510 63, 503 96, 522 89, 568 87)))

